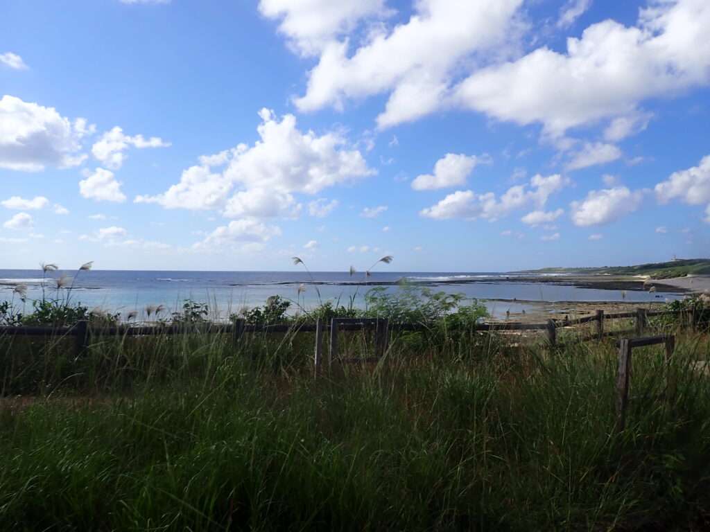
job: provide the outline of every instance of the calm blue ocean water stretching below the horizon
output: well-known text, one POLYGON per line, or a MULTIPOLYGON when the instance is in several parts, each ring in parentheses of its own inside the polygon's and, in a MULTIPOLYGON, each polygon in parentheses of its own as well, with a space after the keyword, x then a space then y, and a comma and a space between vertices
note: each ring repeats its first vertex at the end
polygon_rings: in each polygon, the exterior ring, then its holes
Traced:
POLYGON ((41 270, 0 270, 0 301, 13 300, 22 305, 13 292, 16 284, 28 287, 26 310, 31 310, 33 299, 42 297, 65 298, 89 308, 128 314, 137 311, 144 315, 146 306, 164 304, 167 311, 180 309, 186 299, 207 303, 214 318, 239 312, 244 307, 265 304, 271 296, 292 301, 292 313, 311 309, 321 301, 349 304, 364 308, 364 294, 376 286, 388 292, 398 289, 395 283, 402 279, 423 284, 434 291, 463 293, 466 297, 485 299, 493 316, 503 316, 506 311, 515 314, 523 309, 540 306, 543 301, 626 301, 646 303, 679 299, 677 292, 622 290, 581 287, 566 279, 565 275, 514 274, 506 272, 372 272, 366 277, 362 272, 175 272, 92 270, 67 271, 70 280, 60 289, 55 278, 60 272, 47 274, 41 270), (76 276, 75 278, 73 278, 76 276), (545 277, 546 282, 535 282, 545 277), (523 280, 525 279, 525 280, 523 280), (73 285, 72 285, 73 282, 73 285), (305 291, 299 293, 303 285, 305 291), (71 288, 70 288, 71 287, 71 288), (656 297, 658 296, 658 297, 656 297), (660 298, 661 299, 660 299, 660 298), (503 300, 503 301, 501 301, 503 300), (506 301, 507 300, 507 301, 506 301))

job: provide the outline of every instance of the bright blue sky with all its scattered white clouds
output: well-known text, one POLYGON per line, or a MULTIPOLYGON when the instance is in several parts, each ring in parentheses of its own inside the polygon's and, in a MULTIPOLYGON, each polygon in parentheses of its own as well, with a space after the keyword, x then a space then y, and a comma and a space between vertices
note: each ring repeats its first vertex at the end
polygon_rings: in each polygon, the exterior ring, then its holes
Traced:
POLYGON ((710 255, 707 0, 0 13, 0 269, 710 255))

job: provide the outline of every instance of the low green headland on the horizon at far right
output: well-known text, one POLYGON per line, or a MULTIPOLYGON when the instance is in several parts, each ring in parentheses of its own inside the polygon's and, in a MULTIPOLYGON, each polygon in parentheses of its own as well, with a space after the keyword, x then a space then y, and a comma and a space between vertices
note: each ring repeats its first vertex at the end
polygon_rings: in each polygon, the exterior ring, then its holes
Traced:
POLYGON ((594 268, 541 268, 515 273, 574 273, 579 275, 650 275, 652 279, 672 279, 687 275, 710 275, 710 259, 682 259, 652 262, 635 266, 603 266, 594 268))

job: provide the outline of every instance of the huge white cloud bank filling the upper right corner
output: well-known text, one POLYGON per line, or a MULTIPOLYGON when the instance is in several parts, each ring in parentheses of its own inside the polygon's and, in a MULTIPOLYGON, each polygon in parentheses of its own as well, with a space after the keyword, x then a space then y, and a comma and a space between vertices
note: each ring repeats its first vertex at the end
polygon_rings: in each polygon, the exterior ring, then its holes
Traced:
POLYGON ((709 82, 709 27, 706 0, 655 1, 640 10, 637 26, 601 21, 568 38, 566 53, 538 48, 474 72, 452 103, 503 121, 542 123, 552 138, 634 116, 645 99, 709 82))

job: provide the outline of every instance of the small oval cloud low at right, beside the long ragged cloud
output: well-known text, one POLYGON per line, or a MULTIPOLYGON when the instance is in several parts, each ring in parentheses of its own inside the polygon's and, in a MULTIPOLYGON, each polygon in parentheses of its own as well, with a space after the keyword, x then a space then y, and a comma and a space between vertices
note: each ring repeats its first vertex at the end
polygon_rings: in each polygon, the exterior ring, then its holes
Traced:
POLYGON ((572 221, 577 226, 604 226, 641 206, 643 194, 627 187, 592 190, 583 201, 572 201, 572 221))

